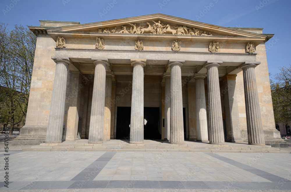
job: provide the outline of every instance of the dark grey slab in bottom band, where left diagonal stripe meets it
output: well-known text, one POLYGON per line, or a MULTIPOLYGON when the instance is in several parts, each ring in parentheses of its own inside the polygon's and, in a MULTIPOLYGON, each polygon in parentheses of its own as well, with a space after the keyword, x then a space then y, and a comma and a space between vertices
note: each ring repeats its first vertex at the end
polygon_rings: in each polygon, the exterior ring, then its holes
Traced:
POLYGON ((75 181, 68 189, 96 189, 106 188, 109 181, 75 181))

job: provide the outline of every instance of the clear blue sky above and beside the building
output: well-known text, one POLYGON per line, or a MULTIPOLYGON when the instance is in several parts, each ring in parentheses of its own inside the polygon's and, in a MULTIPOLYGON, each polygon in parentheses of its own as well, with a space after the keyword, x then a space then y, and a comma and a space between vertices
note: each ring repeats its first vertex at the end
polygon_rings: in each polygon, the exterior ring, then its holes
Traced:
POLYGON ((1 0, 0 9, 0 21, 9 29, 39 26, 38 20, 90 23, 153 13, 224 27, 260 27, 275 34, 266 43, 269 72, 275 75, 278 67, 290 64, 290 0, 1 0))

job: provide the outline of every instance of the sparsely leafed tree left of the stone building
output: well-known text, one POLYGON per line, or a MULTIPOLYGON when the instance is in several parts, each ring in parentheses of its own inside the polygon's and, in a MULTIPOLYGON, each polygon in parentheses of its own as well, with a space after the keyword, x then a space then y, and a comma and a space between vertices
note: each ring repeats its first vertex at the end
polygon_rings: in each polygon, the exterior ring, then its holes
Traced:
POLYGON ((12 31, 1 23, 1 121, 13 127, 25 122, 31 75, 36 46, 36 36, 27 28, 15 25, 12 31), (2 45, 3 44, 3 45, 2 45))

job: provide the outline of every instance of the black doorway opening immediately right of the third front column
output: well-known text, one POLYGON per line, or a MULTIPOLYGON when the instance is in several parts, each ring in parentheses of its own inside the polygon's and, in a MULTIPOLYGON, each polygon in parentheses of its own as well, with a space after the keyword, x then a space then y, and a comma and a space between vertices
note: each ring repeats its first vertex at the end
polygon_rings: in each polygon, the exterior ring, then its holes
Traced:
POLYGON ((145 139, 162 139, 162 135, 159 132, 160 126, 160 108, 159 107, 144 107, 143 116, 147 121, 144 126, 144 138, 145 139))

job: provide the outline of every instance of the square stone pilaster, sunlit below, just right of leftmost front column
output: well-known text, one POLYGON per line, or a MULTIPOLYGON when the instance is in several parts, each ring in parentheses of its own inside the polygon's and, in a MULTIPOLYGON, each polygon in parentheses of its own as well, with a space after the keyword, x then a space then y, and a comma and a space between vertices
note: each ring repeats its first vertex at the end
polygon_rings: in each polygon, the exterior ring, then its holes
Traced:
POLYGON ((70 88, 68 95, 67 126, 65 132, 66 141, 78 140, 78 123, 81 89, 81 74, 79 71, 70 71, 70 88))

